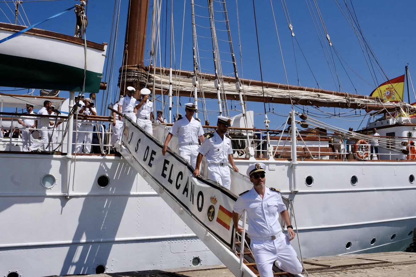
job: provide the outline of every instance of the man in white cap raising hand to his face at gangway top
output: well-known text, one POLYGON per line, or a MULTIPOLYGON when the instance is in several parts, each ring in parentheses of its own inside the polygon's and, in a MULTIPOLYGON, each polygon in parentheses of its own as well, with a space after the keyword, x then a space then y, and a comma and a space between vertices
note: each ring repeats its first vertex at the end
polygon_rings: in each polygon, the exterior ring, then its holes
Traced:
POLYGON ((150 135, 153 135, 153 102, 149 100, 150 89, 142 88, 140 90, 140 96, 141 99, 139 99, 139 103, 136 105, 137 125, 142 127, 150 135))

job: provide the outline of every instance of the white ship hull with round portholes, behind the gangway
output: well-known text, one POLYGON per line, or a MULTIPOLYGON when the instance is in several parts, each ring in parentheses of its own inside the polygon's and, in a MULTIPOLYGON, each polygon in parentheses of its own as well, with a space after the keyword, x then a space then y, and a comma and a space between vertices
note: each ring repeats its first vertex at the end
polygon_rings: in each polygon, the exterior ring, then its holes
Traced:
MULTIPOLYGON (((4 274, 91 274, 100 265, 106 272, 166 269, 192 266, 193 257, 201 265, 220 263, 124 158, 77 156, 69 200, 66 156, 0 158, 4 274), (40 184, 45 174, 56 179, 51 189, 40 184), (110 179, 105 188, 97 184, 102 175, 110 179)), ((294 199, 303 257, 404 250, 411 243, 414 162, 299 161, 296 195, 289 190, 290 162, 264 162, 267 185, 294 199), (358 179, 354 186, 352 175, 358 179), (305 184, 307 176, 313 177, 312 186, 305 184)), ((249 163, 236 161, 241 172, 249 163)), ((292 245, 299 252, 297 238, 292 245)))

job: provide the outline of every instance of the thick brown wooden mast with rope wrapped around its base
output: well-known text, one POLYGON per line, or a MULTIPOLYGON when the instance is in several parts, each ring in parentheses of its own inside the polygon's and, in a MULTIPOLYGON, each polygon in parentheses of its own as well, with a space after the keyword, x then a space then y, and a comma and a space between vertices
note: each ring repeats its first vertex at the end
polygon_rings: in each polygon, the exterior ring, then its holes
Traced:
POLYGON ((132 86, 136 88, 135 96, 138 97, 140 88, 146 84, 147 74, 143 63, 148 11, 149 0, 129 0, 123 64, 119 70, 121 96, 125 88, 132 86))

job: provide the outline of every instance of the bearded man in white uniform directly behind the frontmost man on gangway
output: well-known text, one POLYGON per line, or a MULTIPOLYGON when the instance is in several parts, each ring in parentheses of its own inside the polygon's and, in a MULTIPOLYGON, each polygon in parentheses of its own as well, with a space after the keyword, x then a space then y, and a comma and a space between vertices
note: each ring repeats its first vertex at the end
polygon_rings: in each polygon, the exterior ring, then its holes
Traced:
POLYGON ((208 162, 208 178, 217 181, 221 186, 227 189, 231 188, 228 162, 230 162, 233 169, 238 172, 238 168, 234 164, 231 139, 225 134, 230 126, 230 118, 218 116, 218 128, 213 134, 208 135, 201 147, 199 147, 199 154, 196 158, 196 167, 193 172, 193 175, 199 175, 199 166, 201 164, 202 156, 206 155, 208 162))

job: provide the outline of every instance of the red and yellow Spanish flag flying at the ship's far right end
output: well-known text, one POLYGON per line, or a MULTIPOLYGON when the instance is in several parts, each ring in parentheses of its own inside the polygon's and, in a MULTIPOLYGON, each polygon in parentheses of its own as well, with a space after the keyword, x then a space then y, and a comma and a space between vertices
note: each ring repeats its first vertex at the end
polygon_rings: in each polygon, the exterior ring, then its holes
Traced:
POLYGON ((404 75, 391 79, 378 86, 371 94, 372 97, 379 97, 383 102, 403 101, 404 75))

